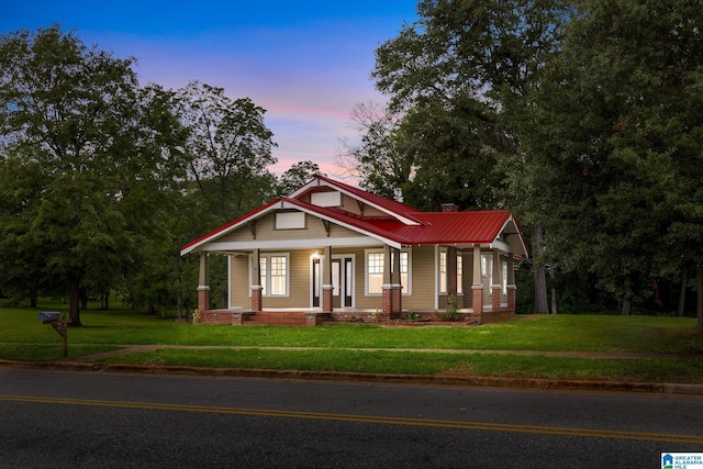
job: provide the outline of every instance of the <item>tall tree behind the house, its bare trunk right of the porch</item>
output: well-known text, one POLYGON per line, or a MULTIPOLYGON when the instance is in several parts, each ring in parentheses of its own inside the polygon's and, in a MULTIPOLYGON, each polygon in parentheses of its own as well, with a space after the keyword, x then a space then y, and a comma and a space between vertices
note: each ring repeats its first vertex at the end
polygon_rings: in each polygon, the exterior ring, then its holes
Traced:
MULTIPOLYGON (((560 0, 423 0, 419 20, 377 49, 372 77, 405 113, 404 155, 414 166, 408 202, 436 209, 509 204, 534 227, 539 216, 506 186, 524 155, 506 112, 559 49, 569 7, 560 0), (512 163, 506 164, 505 161, 512 163)), ((535 268, 536 312, 547 312, 545 269, 535 268)))

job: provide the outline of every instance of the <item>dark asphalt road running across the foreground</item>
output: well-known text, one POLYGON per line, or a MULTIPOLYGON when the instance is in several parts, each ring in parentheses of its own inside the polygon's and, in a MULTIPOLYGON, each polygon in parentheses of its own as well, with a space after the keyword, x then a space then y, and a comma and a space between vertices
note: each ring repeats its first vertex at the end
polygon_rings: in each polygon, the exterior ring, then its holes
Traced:
POLYGON ((659 468, 703 398, 0 368, 0 468, 659 468))

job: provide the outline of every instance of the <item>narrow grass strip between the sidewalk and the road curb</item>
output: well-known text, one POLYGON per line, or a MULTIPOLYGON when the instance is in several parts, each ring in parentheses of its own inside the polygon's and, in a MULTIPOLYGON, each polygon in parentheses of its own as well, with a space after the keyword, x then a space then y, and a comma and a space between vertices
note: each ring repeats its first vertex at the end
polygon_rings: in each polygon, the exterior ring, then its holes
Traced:
POLYGON ((260 368, 401 375, 703 382, 700 359, 593 359, 503 354, 320 350, 159 349, 100 360, 214 368, 260 368))

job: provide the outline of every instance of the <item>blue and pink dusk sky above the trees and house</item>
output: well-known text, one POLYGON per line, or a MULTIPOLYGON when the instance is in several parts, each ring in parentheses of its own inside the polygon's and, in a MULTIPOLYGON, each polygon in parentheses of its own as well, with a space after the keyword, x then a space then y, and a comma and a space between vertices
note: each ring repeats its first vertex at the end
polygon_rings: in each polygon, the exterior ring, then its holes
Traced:
POLYGON ((369 75, 373 51, 415 20, 416 0, 13 1, 0 34, 59 23, 87 44, 133 56, 142 83, 200 80, 267 110, 283 171, 311 159, 339 174, 339 138, 354 139, 356 102, 383 102, 369 75))

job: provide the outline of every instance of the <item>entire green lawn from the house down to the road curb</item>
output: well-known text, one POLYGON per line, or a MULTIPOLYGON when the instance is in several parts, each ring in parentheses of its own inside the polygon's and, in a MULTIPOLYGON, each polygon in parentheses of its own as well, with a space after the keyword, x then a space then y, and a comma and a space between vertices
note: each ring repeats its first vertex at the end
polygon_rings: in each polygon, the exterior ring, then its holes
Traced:
MULTIPOLYGON (((60 358, 60 337, 36 312, 66 305, 0 308, 0 358, 60 358)), ((478 327, 402 327, 330 324, 317 327, 193 325, 130 310, 81 312, 83 327, 69 327, 69 355, 119 345, 217 345, 320 347, 323 350, 159 349, 103 362, 159 362, 205 367, 335 370, 417 375, 481 375, 703 382, 703 360, 692 358, 595 359, 491 354, 490 350, 639 351, 703 354, 694 319, 655 316, 517 316, 478 327), (410 349, 365 351, 361 348, 410 349), (482 350, 450 354, 442 349, 482 350), (424 350, 424 351, 412 351, 424 350), (426 351, 437 350, 437 351, 426 351)))

